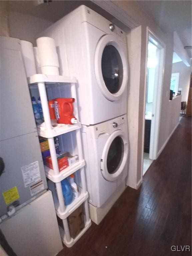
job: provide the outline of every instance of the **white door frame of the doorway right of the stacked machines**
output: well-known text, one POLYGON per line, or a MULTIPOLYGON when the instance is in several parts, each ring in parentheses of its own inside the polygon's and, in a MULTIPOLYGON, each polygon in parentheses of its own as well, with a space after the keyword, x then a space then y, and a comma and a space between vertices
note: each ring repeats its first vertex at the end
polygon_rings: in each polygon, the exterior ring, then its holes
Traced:
MULTIPOLYGON (((148 42, 149 36, 152 38, 152 43, 156 45, 159 50, 159 72, 157 74, 157 85, 154 87, 153 92, 153 108, 152 108, 152 120, 151 120, 151 135, 150 135, 150 149, 149 158, 157 159, 158 157, 158 141, 159 141, 159 126, 160 126, 160 114, 161 114, 161 103, 162 103, 162 91, 163 91, 163 78, 164 78, 164 67, 165 67, 165 44, 147 27, 146 37, 146 63, 145 63, 145 100, 144 109, 146 104, 146 90, 147 90, 147 58, 148 58, 148 42), (154 40, 154 41, 153 41, 154 40), (162 75, 159 75, 162 74, 162 75)), ((143 118, 143 127, 145 127, 145 111, 143 118)), ((144 144, 145 129, 143 129, 143 144, 144 144)), ((144 148, 144 145, 143 145, 144 148)))

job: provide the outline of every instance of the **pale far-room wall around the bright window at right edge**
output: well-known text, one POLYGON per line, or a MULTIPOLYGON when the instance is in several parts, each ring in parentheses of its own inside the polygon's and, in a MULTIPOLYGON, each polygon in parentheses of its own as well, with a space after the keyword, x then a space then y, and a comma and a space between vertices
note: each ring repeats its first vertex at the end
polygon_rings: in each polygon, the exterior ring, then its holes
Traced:
POLYGON ((173 64, 172 73, 179 73, 179 88, 182 88, 181 101, 188 100, 191 71, 191 67, 187 67, 182 61, 173 64))

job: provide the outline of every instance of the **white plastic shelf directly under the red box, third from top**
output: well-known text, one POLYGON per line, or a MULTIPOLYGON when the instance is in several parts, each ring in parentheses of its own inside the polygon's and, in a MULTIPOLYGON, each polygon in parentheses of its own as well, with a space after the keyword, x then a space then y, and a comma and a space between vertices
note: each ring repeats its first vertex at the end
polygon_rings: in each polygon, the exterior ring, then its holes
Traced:
POLYGON ((79 170, 84 166, 85 166, 85 160, 83 159, 67 167, 66 169, 62 170, 58 175, 55 175, 54 170, 44 165, 46 177, 51 181, 53 181, 54 183, 62 181, 63 179, 67 178, 69 175, 71 175, 72 173, 76 172, 77 170, 79 170))

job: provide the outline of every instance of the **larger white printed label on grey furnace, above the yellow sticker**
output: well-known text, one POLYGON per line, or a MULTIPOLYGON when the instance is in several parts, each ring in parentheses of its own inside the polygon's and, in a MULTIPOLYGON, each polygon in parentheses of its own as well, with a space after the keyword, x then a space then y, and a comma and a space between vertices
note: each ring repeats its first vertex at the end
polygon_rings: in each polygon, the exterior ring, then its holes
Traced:
POLYGON ((38 161, 22 166, 21 170, 25 187, 39 181, 41 178, 38 161))

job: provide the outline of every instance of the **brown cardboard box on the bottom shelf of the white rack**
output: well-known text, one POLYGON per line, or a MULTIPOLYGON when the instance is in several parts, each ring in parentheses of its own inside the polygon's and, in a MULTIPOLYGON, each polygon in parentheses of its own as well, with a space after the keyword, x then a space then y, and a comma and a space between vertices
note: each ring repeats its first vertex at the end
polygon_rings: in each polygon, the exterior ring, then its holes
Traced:
POLYGON ((85 227, 83 217, 83 206, 80 205, 74 212, 67 218, 69 225, 69 232, 72 238, 75 238, 81 230, 85 227))

